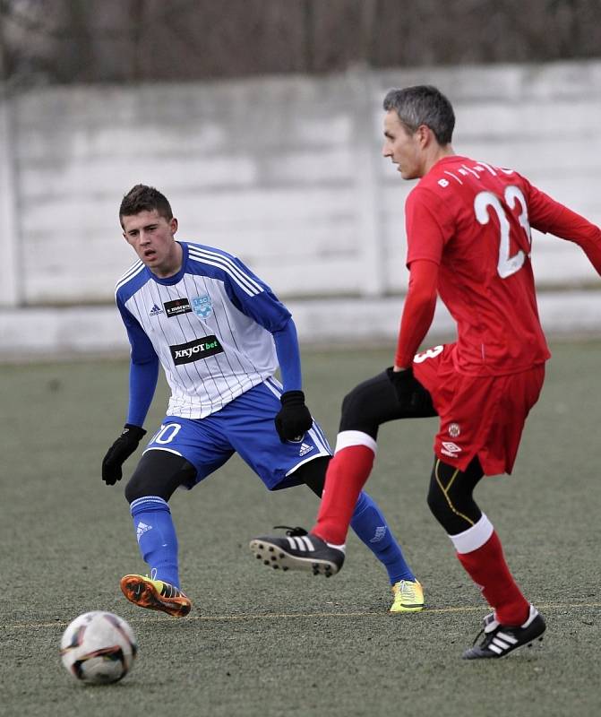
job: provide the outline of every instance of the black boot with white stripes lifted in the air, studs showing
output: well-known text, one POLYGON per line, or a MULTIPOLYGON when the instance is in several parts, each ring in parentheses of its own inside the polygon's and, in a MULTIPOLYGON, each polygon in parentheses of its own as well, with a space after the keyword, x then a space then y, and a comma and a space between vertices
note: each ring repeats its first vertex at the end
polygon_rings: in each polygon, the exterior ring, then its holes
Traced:
POLYGON ((306 570, 313 575, 330 577, 338 573, 344 563, 343 545, 330 545, 304 528, 289 528, 285 537, 263 535, 254 538, 250 549, 264 565, 276 570, 306 570))

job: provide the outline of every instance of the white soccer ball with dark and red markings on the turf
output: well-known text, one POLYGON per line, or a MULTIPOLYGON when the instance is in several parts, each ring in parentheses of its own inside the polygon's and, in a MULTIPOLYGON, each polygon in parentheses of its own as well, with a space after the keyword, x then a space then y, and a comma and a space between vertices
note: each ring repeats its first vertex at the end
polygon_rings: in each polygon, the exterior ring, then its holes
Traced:
POLYGON ((132 628, 112 612, 85 612, 61 639, 61 660, 75 679, 106 685, 132 669, 138 646, 132 628))

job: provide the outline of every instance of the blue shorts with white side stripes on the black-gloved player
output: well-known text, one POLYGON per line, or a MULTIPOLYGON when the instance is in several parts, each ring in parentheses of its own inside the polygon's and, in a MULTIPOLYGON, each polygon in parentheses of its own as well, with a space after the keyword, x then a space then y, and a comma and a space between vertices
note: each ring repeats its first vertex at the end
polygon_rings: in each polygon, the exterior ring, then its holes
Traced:
POLYGON ((270 490, 299 484, 291 473, 320 455, 331 455, 322 428, 313 426, 300 441, 279 440, 273 419, 281 408, 281 384, 274 378, 254 386, 204 419, 166 416, 144 449, 181 455, 196 468, 191 485, 217 471, 235 453, 270 490))

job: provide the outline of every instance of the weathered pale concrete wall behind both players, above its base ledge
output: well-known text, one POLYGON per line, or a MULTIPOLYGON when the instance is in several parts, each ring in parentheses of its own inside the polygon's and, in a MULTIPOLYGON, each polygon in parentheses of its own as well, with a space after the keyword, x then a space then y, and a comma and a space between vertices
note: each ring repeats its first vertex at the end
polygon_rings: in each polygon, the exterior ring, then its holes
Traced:
MULTIPOLYGON (((180 238, 239 255, 282 298, 351 296, 352 315, 402 294, 412 183, 381 157, 381 104, 417 82, 453 101, 456 151, 601 223, 601 62, 50 88, 0 95, 0 304, 112 301, 137 182, 167 194, 180 238)), ((542 289, 598 283, 569 242, 535 236, 533 256, 542 289)))

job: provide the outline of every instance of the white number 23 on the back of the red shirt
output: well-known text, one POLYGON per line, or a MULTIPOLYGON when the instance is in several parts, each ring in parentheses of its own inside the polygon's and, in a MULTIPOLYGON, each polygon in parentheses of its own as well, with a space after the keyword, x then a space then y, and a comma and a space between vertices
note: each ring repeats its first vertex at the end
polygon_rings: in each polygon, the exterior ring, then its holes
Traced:
MULTIPOLYGON (((515 209, 516 200, 519 201, 521 212, 518 215, 519 225, 526 233, 528 239, 528 246, 532 243, 530 234, 530 223, 528 222, 528 207, 526 205, 526 199, 522 194, 521 189, 518 186, 510 185, 505 187, 504 192, 505 203, 511 210, 515 209)), ((499 238, 499 262, 497 263, 497 272, 502 279, 507 279, 508 276, 519 272, 521 267, 524 265, 526 255, 519 249, 517 254, 510 256, 510 231, 511 225, 507 218, 507 212, 503 208, 499 197, 492 192, 480 192, 477 194, 474 200, 474 212, 476 212, 476 219, 480 224, 488 224, 490 221, 490 215, 488 213, 488 207, 494 210, 494 213, 499 219, 499 229, 501 230, 501 236, 499 238)))

